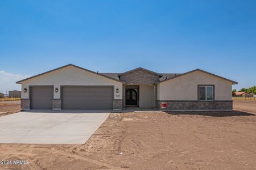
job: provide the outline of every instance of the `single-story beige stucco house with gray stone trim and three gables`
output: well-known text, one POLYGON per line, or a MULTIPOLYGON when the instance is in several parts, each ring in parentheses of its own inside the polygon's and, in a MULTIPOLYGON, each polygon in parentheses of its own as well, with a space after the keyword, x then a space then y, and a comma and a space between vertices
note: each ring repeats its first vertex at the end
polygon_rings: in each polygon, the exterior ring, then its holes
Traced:
POLYGON ((125 73, 96 73, 72 64, 31 76, 22 84, 21 108, 171 111, 232 110, 233 80, 200 69, 183 74, 141 67, 125 73))

